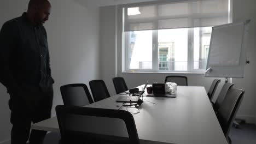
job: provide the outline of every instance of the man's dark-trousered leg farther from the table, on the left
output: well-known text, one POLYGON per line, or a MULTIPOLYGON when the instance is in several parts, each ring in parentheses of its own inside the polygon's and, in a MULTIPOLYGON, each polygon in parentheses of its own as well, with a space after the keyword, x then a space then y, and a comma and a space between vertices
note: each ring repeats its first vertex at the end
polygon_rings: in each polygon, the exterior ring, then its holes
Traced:
POLYGON ((10 122, 13 124, 11 129, 11 144, 25 144, 30 135, 31 113, 20 95, 12 95, 9 107, 11 109, 10 122))

